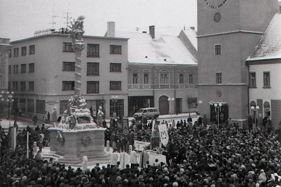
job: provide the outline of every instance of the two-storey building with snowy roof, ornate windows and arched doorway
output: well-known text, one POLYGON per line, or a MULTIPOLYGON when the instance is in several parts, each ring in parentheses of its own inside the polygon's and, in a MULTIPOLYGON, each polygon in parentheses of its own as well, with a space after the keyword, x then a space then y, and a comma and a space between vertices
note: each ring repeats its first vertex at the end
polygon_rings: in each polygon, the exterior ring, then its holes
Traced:
POLYGON ((148 107, 157 107, 160 115, 197 110, 197 40, 194 30, 183 30, 177 37, 156 35, 155 26, 150 26, 149 33, 116 32, 116 35, 130 38, 128 116, 133 116, 139 108, 148 107), (190 36, 185 34, 187 32, 192 32, 192 39, 187 37, 190 36))

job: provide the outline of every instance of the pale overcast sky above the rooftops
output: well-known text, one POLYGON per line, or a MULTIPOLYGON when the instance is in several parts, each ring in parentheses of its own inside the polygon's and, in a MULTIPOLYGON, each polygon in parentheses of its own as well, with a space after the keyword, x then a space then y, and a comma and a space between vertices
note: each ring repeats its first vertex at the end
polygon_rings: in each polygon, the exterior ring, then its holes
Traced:
POLYGON ((37 30, 52 27, 54 2, 54 28, 66 27, 69 17, 85 16, 86 35, 103 36, 107 21, 115 22, 117 31, 148 31, 179 34, 186 28, 197 26, 196 0, 0 0, 0 37, 11 41, 34 36, 37 30))

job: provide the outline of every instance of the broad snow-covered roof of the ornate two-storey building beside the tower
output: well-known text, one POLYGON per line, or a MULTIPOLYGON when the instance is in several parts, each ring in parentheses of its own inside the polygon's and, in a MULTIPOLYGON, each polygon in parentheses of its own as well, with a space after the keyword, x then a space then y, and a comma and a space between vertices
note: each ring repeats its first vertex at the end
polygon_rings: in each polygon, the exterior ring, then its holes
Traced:
POLYGON ((148 33, 115 32, 116 37, 128 40, 129 63, 190 64, 197 65, 196 58, 177 36, 148 33))

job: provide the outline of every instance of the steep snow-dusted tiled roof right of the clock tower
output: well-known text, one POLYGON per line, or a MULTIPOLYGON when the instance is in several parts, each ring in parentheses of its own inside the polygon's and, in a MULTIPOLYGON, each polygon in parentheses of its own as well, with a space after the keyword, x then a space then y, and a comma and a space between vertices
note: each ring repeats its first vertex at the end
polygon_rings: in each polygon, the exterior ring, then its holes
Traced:
POLYGON ((281 58, 281 14, 275 14, 246 61, 281 58))

